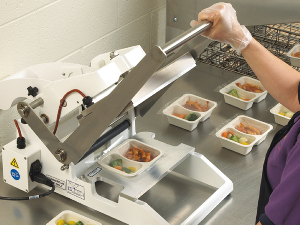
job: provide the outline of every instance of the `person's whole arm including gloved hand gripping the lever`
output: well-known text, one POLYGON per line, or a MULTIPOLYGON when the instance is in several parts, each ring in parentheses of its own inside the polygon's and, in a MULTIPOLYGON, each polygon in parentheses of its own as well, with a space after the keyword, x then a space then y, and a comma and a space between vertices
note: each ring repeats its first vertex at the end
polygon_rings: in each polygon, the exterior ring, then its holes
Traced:
POLYGON ((282 105, 293 112, 300 110, 298 86, 300 73, 274 56, 251 33, 237 21, 236 12, 231 4, 217 3, 202 10, 195 25, 203 20, 213 22, 212 27, 202 35, 209 39, 230 44, 242 53, 265 89, 282 105))

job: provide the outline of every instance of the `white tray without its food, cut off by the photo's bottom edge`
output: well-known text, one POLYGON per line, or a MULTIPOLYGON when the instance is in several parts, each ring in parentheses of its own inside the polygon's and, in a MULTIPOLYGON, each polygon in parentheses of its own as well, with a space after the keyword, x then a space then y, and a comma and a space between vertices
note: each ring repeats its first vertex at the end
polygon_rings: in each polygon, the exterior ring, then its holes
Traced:
POLYGON ((59 215, 57 215, 55 218, 53 218, 46 225, 56 225, 60 219, 63 219, 65 222, 81 221, 83 223, 83 225, 102 225, 102 223, 96 222, 92 219, 89 219, 83 215, 79 215, 78 213, 75 213, 75 212, 69 211, 69 210, 61 212, 59 215))

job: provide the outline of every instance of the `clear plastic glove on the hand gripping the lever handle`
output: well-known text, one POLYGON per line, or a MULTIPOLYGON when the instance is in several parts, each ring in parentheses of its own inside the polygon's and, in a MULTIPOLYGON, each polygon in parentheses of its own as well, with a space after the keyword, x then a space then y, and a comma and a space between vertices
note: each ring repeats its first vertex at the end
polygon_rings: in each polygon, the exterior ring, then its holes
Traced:
MULTIPOLYGON (((203 36, 230 44, 238 55, 252 40, 249 30, 238 23, 236 11, 229 3, 217 3, 202 10, 198 15, 198 20, 199 22, 203 20, 213 22, 213 26, 202 33, 203 36)), ((193 20, 190 25, 194 26, 199 22, 193 20)))

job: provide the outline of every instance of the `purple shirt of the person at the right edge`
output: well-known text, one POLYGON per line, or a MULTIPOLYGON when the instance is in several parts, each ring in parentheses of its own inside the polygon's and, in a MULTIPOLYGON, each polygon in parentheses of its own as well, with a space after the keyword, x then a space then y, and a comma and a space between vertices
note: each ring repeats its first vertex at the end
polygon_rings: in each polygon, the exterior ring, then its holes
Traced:
POLYGON ((275 224, 298 225, 300 221, 300 140, 288 153, 279 185, 265 207, 275 224))

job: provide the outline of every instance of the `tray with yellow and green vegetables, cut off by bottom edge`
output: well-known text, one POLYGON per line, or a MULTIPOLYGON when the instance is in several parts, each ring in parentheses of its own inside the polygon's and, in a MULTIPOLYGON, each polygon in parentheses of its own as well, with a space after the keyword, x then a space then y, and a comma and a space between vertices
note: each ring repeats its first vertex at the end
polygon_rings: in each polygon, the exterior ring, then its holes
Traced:
POLYGON ((46 225, 102 225, 73 211, 63 211, 46 225))

